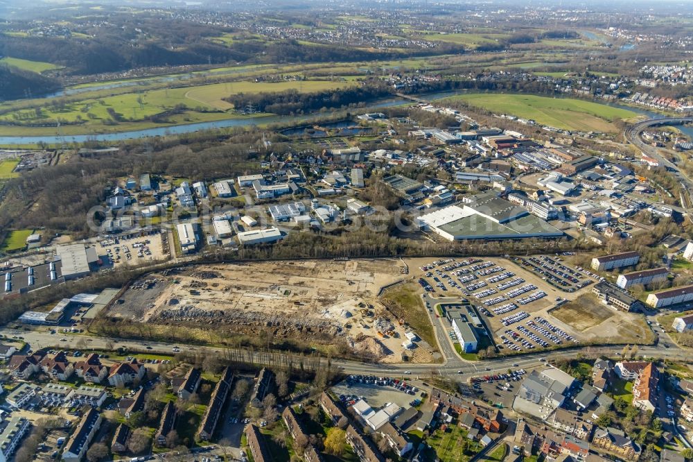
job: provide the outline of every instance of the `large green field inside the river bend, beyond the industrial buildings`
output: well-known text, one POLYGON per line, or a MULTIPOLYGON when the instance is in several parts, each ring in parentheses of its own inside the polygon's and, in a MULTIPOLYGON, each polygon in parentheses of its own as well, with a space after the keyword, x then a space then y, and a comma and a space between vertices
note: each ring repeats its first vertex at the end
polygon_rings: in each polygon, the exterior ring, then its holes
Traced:
POLYGON ((563 130, 616 132, 617 128, 612 121, 637 115, 629 110, 581 99, 527 94, 471 93, 453 96, 451 99, 461 100, 498 114, 534 119, 542 125, 563 130))

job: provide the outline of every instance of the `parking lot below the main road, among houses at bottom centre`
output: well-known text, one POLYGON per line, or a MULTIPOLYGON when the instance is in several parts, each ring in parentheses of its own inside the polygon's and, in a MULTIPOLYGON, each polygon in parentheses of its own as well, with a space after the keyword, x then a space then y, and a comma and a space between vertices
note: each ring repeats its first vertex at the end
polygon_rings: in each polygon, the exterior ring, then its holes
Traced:
POLYGON ((399 407, 406 409, 407 407, 412 407, 414 400, 421 400, 420 382, 417 382, 418 385, 412 385, 406 380, 399 381, 397 379, 388 379, 387 377, 383 377, 383 380, 380 380, 374 376, 366 376, 369 378, 365 379, 363 377, 353 375, 332 387, 332 391, 342 400, 344 406, 349 407, 354 402, 362 399, 374 408, 383 407, 387 403, 394 402, 399 407), (357 377, 362 378, 358 379, 357 377), (411 387, 410 393, 405 391, 407 387, 411 387))

